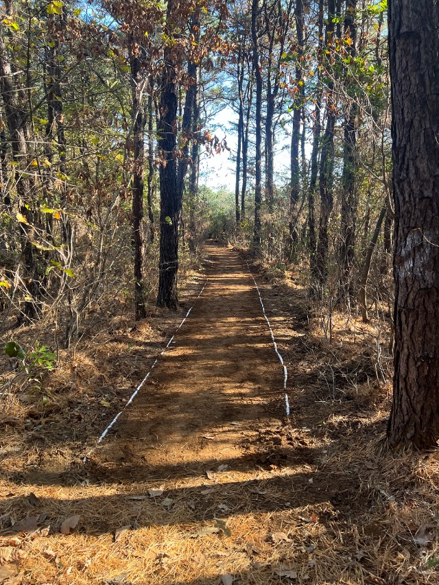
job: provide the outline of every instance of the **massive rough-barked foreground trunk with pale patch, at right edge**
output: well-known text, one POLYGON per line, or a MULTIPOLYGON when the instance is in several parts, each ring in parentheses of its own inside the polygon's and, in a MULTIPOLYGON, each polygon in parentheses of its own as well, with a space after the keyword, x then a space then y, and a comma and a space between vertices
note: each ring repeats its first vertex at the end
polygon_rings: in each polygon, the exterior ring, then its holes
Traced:
POLYGON ((389 3, 395 204, 391 447, 439 438, 439 11, 389 3))

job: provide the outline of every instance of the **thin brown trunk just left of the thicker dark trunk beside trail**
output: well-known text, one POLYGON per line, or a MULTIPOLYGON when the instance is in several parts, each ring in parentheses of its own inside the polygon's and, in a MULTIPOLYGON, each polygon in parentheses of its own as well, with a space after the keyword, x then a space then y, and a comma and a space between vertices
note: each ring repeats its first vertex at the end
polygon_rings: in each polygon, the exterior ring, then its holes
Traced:
POLYGON ((146 315, 143 290, 143 165, 145 163, 145 120, 142 94, 145 80, 142 75, 141 48, 134 36, 130 37, 130 66, 132 91, 132 117, 134 141, 134 165, 132 171, 132 248, 134 252, 134 318, 146 315))

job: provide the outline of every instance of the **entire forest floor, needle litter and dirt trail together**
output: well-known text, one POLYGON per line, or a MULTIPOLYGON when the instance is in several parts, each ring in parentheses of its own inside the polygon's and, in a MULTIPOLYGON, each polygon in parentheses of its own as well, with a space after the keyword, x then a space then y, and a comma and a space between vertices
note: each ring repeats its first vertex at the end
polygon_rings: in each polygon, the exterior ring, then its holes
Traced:
POLYGON ((209 243, 177 314, 3 405, 0 584, 439 583, 439 456, 380 449, 377 324, 330 344, 297 281, 254 277, 290 416, 245 256, 209 243))

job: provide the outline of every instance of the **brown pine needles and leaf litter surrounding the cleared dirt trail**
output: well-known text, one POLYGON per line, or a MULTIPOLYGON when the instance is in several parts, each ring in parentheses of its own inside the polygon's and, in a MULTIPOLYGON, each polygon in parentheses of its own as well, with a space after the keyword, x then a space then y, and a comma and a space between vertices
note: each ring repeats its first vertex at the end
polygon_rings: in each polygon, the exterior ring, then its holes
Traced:
POLYGON ((294 411, 261 424, 245 462, 218 459, 227 468, 213 479, 198 460, 187 473, 146 468, 144 481, 111 477, 93 455, 82 462, 180 315, 152 311, 135 327, 108 316, 38 390, 24 379, 11 387, 0 414, 5 583, 439 583, 429 566, 439 558, 438 453, 379 449, 390 385, 377 377, 375 340, 387 332, 334 313, 339 347, 319 315, 308 324, 300 286, 278 280, 261 292, 294 411), (78 525, 60 534, 74 515, 78 525))

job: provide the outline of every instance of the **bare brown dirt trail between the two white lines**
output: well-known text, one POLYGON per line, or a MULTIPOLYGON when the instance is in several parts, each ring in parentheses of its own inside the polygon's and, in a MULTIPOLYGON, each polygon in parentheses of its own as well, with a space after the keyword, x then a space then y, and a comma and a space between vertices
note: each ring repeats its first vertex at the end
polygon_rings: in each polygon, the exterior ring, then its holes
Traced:
POLYGON ((242 457, 270 401, 283 396, 248 267, 214 244, 208 264, 202 296, 100 449, 120 479, 127 467, 144 475, 142 466, 195 469, 242 457))

